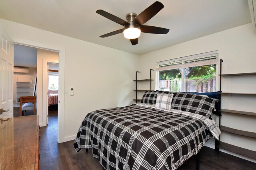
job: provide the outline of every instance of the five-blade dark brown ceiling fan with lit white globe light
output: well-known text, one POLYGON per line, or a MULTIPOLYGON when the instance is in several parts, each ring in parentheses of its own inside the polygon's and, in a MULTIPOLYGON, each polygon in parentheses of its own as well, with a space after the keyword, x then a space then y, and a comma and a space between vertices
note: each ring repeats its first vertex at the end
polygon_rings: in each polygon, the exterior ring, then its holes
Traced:
POLYGON ((161 2, 156 1, 152 5, 150 5, 148 8, 146 8, 146 10, 142 11, 138 16, 135 13, 127 14, 126 19, 128 21, 124 21, 121 18, 118 18, 117 16, 114 16, 104 10, 97 10, 96 13, 124 26, 124 28, 122 29, 118 29, 116 31, 106 33, 104 35, 101 35, 100 37, 102 38, 109 37, 111 35, 116 35, 118 33, 123 32, 124 37, 126 37, 127 39, 130 39, 132 45, 136 45, 138 44, 138 37, 140 36, 141 32, 154 33, 154 34, 167 34, 169 32, 169 29, 143 25, 148 20, 150 20, 153 16, 155 16, 160 10, 162 10, 162 8, 164 8, 164 5, 161 2))

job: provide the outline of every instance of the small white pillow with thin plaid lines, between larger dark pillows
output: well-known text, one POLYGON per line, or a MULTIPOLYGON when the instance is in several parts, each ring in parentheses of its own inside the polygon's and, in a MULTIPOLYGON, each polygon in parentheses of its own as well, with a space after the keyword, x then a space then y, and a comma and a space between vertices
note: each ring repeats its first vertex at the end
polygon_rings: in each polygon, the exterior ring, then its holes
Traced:
POLYGON ((173 94, 158 94, 156 97, 156 108, 171 109, 173 94))

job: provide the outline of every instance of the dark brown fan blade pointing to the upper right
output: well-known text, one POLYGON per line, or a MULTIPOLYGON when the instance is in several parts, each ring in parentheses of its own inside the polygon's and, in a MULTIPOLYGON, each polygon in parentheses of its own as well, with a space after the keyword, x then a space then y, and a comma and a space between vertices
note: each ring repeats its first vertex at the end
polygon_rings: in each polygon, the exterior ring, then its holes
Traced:
POLYGON ((153 16, 155 16, 160 10, 164 8, 164 5, 161 2, 154 2, 154 4, 150 5, 146 10, 142 11, 132 22, 137 25, 142 25, 146 23, 146 21, 150 20, 153 16))

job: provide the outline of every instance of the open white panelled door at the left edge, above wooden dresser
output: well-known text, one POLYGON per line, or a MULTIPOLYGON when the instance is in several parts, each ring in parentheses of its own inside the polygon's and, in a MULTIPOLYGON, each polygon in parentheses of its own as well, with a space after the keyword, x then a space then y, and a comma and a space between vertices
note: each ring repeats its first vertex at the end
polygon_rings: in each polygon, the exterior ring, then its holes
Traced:
POLYGON ((14 43, 0 23, 0 118, 13 117, 14 43))

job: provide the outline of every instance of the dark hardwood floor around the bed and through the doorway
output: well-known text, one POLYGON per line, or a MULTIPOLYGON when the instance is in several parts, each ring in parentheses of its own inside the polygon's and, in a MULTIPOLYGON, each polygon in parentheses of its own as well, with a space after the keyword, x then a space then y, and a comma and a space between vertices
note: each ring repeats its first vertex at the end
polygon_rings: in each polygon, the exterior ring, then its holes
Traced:
MULTIPOLYGON (((40 170, 102 170, 102 166, 98 159, 92 156, 90 149, 87 153, 85 149, 76 153, 73 147, 74 141, 57 143, 57 123, 58 111, 56 108, 50 108, 48 125, 39 129, 40 170)), ((195 168, 194 156, 184 162, 178 170, 195 170, 195 168)), ((200 170, 256 170, 256 163, 203 147, 200 152, 200 170)))

